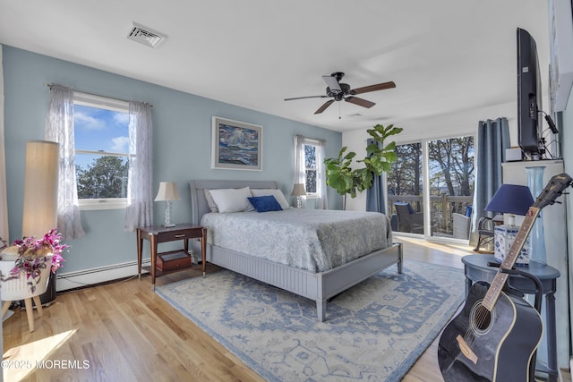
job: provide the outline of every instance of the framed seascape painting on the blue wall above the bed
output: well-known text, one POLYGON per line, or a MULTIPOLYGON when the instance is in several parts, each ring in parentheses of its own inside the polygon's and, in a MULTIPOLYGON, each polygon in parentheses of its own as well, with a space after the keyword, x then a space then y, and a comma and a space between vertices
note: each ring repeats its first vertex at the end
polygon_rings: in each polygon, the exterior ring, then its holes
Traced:
POLYGON ((213 117, 211 168, 262 170, 262 126, 213 117))

